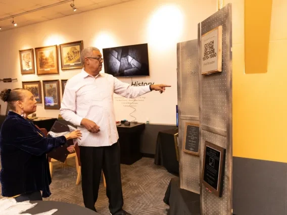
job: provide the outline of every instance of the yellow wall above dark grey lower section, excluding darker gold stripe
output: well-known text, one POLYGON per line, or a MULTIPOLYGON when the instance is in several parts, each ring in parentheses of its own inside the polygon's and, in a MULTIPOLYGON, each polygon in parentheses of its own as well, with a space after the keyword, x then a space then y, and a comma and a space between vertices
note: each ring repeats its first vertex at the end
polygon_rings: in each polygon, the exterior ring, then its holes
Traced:
POLYGON ((258 74, 245 74, 244 0, 224 3, 232 3, 233 156, 287 163, 287 1, 272 2, 267 73, 258 74))

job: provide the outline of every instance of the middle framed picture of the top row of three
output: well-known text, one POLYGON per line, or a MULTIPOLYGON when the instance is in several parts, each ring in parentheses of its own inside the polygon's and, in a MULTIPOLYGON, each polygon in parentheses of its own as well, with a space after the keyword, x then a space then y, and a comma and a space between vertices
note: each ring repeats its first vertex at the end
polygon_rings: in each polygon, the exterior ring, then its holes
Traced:
POLYGON ((35 48, 37 75, 59 74, 57 45, 35 48))

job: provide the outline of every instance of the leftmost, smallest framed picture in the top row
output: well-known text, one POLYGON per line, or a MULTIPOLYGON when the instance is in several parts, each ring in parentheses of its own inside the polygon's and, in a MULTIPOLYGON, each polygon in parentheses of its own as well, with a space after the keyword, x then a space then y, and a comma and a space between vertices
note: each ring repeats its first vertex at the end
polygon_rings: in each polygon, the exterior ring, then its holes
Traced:
POLYGON ((19 50, 21 74, 34 74, 34 51, 33 48, 19 50))

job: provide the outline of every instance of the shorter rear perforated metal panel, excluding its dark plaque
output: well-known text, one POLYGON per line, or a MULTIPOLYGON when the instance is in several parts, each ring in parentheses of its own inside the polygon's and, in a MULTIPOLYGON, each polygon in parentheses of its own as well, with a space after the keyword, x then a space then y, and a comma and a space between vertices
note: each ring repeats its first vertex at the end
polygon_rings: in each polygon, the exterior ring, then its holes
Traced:
POLYGON ((182 150, 185 123, 199 124, 197 39, 177 43, 177 83, 180 188, 200 193, 199 156, 182 150))

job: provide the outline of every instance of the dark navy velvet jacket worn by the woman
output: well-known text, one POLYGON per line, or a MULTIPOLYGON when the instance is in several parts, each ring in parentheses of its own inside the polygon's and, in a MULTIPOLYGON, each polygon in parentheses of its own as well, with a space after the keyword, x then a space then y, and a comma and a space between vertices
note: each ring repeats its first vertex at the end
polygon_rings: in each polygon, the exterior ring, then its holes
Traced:
POLYGON ((64 136, 46 138, 32 122, 9 112, 0 131, 2 196, 42 191, 51 195, 47 152, 66 143, 64 136))

